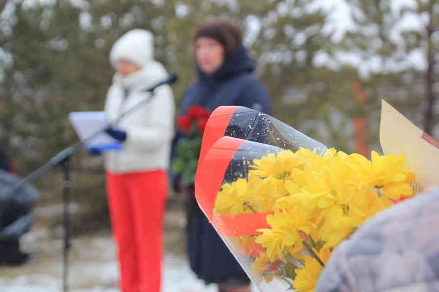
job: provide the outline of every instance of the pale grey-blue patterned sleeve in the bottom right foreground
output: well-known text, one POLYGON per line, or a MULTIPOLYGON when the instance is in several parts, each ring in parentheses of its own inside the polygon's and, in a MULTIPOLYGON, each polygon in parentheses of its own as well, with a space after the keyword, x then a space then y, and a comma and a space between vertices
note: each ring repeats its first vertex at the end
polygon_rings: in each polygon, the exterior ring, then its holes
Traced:
POLYGON ((316 292, 439 291, 439 191, 366 221, 333 252, 316 292))

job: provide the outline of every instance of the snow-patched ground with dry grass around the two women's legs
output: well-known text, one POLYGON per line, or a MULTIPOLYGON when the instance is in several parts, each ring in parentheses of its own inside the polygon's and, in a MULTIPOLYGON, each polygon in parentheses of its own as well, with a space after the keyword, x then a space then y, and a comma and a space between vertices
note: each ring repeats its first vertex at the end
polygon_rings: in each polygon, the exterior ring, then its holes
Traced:
MULTIPOLYGON (((0 266, 0 292, 62 291, 62 240, 43 218, 52 209, 36 208, 37 222, 21 240, 22 249, 31 253, 32 260, 20 267, 0 266)), ((204 286, 189 268, 181 215, 168 212, 165 218, 162 292, 216 292, 215 285, 204 286)), ((109 230, 74 237, 69 252, 69 291, 119 292, 115 256, 109 230)))

